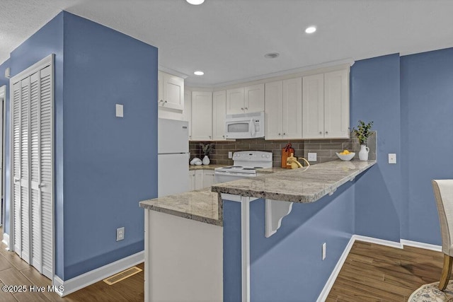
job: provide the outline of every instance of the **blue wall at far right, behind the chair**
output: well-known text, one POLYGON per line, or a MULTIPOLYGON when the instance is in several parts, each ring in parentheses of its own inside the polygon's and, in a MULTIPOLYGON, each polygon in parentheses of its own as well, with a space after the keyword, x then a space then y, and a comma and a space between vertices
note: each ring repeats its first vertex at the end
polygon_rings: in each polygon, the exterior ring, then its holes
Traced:
POLYGON ((453 49, 401 57, 402 238, 441 245, 431 180, 453 178, 453 49))

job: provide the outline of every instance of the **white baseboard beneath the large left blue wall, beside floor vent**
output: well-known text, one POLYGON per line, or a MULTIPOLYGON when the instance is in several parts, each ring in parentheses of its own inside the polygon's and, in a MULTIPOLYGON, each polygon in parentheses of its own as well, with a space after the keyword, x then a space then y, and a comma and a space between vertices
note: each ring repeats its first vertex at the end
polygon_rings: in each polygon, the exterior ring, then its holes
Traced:
POLYGON ((81 274, 80 276, 74 277, 67 281, 63 281, 58 276, 55 276, 53 285, 57 287, 62 286, 61 288, 64 288, 64 291, 62 292, 57 291, 57 294, 59 294, 59 296, 67 296, 71 293, 74 293, 74 291, 83 289, 88 285, 96 283, 97 281, 101 281, 102 279, 110 277, 113 274, 117 274, 118 272, 122 272, 123 270, 128 269, 129 267, 133 267, 134 265, 138 265, 142 262, 144 262, 144 251, 137 252, 134 255, 122 258, 108 265, 104 265, 103 267, 93 269, 90 272, 86 272, 85 274, 81 274))

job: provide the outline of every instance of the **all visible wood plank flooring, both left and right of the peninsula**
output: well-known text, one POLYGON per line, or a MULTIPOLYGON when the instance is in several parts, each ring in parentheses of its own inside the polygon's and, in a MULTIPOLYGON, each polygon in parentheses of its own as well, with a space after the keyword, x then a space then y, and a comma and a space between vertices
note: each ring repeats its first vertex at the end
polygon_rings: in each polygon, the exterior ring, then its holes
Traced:
MULTIPOLYGON (((50 285, 49 279, 5 248, 1 243, 0 286, 50 285)), ((422 284, 439 281, 442 261, 442 252, 356 241, 326 302, 406 302, 422 284)), ((137 266, 144 269, 143 263, 137 266)), ((144 301, 144 272, 111 286, 99 281, 64 298, 49 292, 10 294, 0 291, 0 301, 144 301)))

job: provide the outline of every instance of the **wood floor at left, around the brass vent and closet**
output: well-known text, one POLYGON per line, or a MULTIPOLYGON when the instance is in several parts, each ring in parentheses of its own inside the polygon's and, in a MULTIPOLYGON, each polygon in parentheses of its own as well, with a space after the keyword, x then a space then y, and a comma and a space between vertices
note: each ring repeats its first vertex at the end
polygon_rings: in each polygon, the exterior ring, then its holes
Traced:
MULTIPOLYGON (((0 228, 0 237, 3 237, 3 231, 0 228)), ((0 240, 1 241, 1 240, 0 240)), ((34 267, 21 260, 15 252, 5 250, 6 245, 0 244, 0 301, 144 301, 144 271, 134 274, 116 284, 108 285, 99 281, 91 286, 76 291, 72 294, 61 298, 55 293, 23 293, 11 294, 1 291, 4 285, 25 285, 28 286, 45 286, 51 285, 50 279, 42 276, 34 267)), ((144 264, 137 265, 144 269, 144 264)))

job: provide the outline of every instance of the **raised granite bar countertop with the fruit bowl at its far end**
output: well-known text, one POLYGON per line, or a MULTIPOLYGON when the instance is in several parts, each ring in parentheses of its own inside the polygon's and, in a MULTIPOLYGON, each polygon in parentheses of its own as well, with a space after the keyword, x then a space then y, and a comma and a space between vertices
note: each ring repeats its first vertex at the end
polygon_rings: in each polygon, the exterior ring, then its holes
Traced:
POLYGON ((316 202, 376 161, 329 161, 304 168, 212 185, 212 192, 287 202, 316 202))

